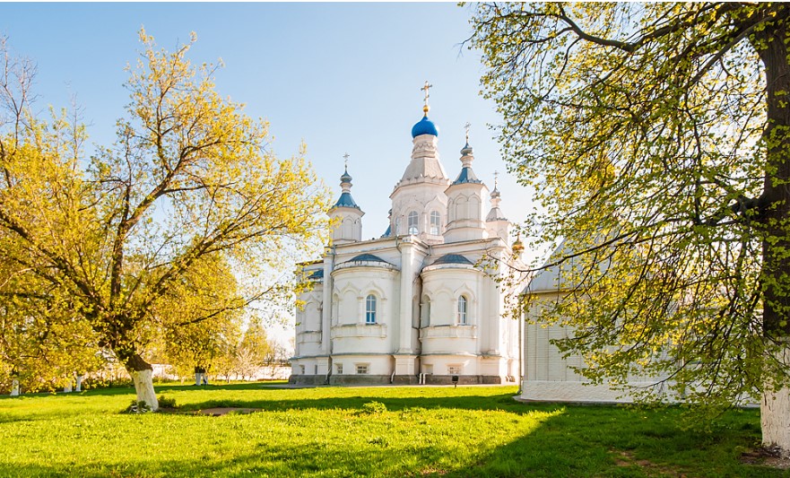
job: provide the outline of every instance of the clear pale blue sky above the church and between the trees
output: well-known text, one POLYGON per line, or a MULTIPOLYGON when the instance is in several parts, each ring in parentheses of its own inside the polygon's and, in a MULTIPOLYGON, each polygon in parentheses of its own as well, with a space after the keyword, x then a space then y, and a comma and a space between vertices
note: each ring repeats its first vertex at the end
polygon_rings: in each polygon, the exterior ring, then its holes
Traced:
MULTIPOLYGON (((307 143, 308 158, 339 194, 348 152, 352 196, 366 215, 363 239, 386 230, 389 195, 409 162, 421 118, 422 84, 439 126, 447 174, 460 169, 464 124, 472 123, 473 169, 489 187, 505 171, 487 125, 499 123, 479 95, 480 55, 462 48, 468 7, 456 4, 0 4, 0 34, 38 64, 37 109, 82 107, 91 143, 114 140, 128 100, 124 66, 141 26, 162 48, 197 34, 190 58, 225 67, 217 90, 271 122, 281 155, 307 143)), ((502 209, 524 219, 529 194, 502 175, 502 209)))

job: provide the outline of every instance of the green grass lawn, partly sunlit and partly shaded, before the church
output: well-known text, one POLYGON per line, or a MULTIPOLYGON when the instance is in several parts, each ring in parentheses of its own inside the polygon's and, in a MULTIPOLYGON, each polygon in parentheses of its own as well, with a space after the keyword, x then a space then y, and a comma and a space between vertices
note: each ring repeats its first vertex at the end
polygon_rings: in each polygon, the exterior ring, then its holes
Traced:
POLYGON ((790 476, 743 465, 756 410, 684 430, 676 408, 518 404, 515 387, 157 387, 0 399, 3 476, 790 476), (366 405, 378 402, 386 405, 366 405), (215 406, 262 409, 220 417, 215 406))

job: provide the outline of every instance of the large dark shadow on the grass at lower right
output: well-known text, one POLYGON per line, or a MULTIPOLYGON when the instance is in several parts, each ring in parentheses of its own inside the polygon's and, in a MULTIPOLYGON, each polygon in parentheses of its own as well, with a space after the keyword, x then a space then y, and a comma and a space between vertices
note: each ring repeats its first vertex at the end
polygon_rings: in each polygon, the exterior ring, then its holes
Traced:
POLYGON ((755 416, 734 415, 701 432, 686 429, 677 407, 569 406, 533 432, 482 454, 447 478, 506 476, 790 476, 790 471, 742 463, 741 453, 759 442, 755 416), (611 411, 611 410, 609 410, 611 411))

